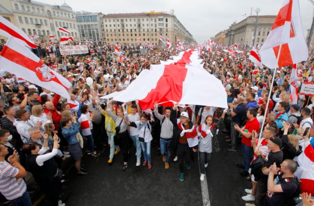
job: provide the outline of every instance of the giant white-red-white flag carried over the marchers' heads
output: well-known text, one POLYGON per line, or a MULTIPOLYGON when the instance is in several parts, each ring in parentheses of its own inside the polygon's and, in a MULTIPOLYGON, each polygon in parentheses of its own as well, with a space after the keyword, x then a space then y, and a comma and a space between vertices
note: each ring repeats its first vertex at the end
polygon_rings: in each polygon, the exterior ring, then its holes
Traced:
POLYGON ((203 69, 201 61, 197 50, 180 52, 172 60, 161 61, 151 65, 150 70, 143 70, 125 90, 110 94, 110 98, 119 102, 139 100, 143 110, 153 108, 154 102, 164 106, 173 106, 173 102, 177 102, 226 108, 224 86, 203 69))

